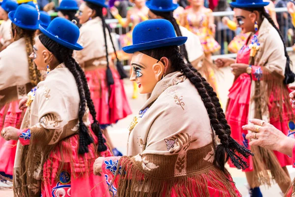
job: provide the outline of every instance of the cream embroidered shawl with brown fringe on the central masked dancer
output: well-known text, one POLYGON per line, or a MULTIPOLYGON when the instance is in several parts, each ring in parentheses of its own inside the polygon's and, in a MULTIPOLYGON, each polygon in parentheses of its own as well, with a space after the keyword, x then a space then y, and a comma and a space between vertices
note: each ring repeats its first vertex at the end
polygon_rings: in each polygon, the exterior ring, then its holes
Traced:
POLYGON ((212 163, 214 134, 207 109, 181 72, 166 75, 129 127, 128 156, 119 160, 118 197, 206 197, 208 185, 219 196, 238 192, 212 163), (121 172, 121 173, 120 173, 121 172))

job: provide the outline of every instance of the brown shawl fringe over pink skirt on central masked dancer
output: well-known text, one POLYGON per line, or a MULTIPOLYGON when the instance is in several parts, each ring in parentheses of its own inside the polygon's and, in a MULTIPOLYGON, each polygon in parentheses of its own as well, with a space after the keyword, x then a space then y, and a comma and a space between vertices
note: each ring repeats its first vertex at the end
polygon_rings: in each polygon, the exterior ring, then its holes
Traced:
MULTIPOLYGON (((133 164, 130 157, 122 157, 118 165, 121 165, 121 174, 118 170, 110 184, 114 184, 117 177, 118 187, 116 197, 170 197, 174 192, 178 197, 208 197, 208 183, 220 192, 220 197, 237 197, 240 195, 235 190, 235 185, 228 178, 229 173, 223 173, 213 165, 190 175, 157 179, 154 176, 144 174, 140 166, 133 164)), ((156 176, 156 175, 155 175, 156 176)))

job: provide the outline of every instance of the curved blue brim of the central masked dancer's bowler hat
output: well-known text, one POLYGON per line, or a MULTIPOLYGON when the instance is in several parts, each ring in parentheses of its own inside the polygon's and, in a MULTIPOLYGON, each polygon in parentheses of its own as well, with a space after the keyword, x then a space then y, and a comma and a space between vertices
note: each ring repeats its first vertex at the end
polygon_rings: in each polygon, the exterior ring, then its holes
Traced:
POLYGON ((159 48, 164 46, 180 46, 184 44, 186 40, 187 40, 187 37, 184 37, 184 36, 172 37, 172 38, 154 40, 151 42, 125 46, 122 48, 122 50, 125 53, 135 53, 137 51, 149 50, 149 49, 154 49, 154 48, 159 48))

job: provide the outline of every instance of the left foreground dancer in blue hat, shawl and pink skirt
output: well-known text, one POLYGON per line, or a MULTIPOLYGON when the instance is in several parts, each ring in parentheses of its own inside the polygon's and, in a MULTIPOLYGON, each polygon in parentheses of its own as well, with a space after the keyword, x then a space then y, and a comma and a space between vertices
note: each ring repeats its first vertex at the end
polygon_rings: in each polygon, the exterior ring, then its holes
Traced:
POLYGON ((38 69, 47 70, 47 77, 20 104, 28 106, 22 129, 6 127, 1 131, 6 140, 19 140, 14 196, 105 194, 105 178, 94 177, 92 164, 98 155, 110 156, 111 152, 95 118, 86 76, 72 58, 73 50, 83 49, 77 44, 79 28, 58 17, 48 27, 40 25, 40 30, 44 34, 30 57, 38 69))

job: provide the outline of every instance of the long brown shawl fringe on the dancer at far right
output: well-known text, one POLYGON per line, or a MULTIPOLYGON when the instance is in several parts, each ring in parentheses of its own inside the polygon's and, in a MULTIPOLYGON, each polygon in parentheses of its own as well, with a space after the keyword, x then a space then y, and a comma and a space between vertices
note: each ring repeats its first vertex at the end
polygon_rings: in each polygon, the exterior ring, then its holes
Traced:
MULTIPOLYGON (((254 65, 253 57, 250 57, 249 65, 254 65)), ((255 94, 251 98, 251 101, 255 103, 254 118, 263 119, 263 115, 268 114, 270 117, 279 117, 282 122, 284 102, 289 101, 288 89, 283 83, 282 76, 278 74, 276 76, 275 72, 269 73, 266 67, 262 67, 262 70, 263 81, 255 81, 255 94), (271 110, 268 111, 270 96, 273 97, 273 104, 271 110)), ((286 104, 285 106, 288 118, 294 117, 291 105, 286 104)), ((251 146, 251 151, 255 154, 253 157, 253 183, 255 187, 264 184, 271 186, 274 180, 282 184, 290 182, 290 178, 281 167, 273 151, 259 146, 251 146)))

